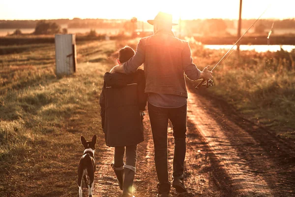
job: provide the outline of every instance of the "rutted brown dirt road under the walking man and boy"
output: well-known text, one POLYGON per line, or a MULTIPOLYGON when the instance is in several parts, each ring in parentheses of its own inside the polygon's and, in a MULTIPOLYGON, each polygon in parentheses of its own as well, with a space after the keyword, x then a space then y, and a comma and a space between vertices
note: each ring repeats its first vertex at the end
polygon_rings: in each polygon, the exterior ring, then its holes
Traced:
MULTIPOLYGON (((231 106, 189 90, 185 185, 188 192, 171 197, 294 197, 295 143, 260 128, 231 106), (291 145, 290 145, 291 144, 291 145)), ((148 115, 145 141, 138 146, 135 197, 155 197, 157 177, 148 115)), ((169 167, 173 136, 169 127, 169 167)), ((103 139, 100 139, 103 141, 103 139)), ((95 197, 118 197, 112 171, 113 149, 101 143, 95 197)), ((171 173, 170 173, 171 175, 171 173)), ((172 176, 172 175, 171 175, 172 176)))

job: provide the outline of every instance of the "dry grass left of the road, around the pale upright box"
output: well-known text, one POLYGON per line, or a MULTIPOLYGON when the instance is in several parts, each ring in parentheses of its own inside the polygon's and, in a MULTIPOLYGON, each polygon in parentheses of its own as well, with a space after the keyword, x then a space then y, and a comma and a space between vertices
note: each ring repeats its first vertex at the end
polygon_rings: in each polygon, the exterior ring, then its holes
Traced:
POLYGON ((32 47, 3 57, 13 61, 0 71, 1 197, 77 195, 80 135, 102 135, 97 98, 116 45, 92 42, 77 48, 82 54, 77 73, 68 77, 55 75, 50 45, 46 52, 32 47), (52 63, 43 65, 39 57, 52 63), (26 63, 18 65, 17 59, 26 63))

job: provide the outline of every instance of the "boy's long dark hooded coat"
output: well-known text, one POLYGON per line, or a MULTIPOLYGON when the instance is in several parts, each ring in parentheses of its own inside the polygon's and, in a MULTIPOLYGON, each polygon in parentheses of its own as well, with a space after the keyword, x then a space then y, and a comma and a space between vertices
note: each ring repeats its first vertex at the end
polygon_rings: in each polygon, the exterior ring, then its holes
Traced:
POLYGON ((130 146, 144 141, 143 116, 147 96, 145 73, 105 73, 100 95, 100 115, 106 145, 130 146))

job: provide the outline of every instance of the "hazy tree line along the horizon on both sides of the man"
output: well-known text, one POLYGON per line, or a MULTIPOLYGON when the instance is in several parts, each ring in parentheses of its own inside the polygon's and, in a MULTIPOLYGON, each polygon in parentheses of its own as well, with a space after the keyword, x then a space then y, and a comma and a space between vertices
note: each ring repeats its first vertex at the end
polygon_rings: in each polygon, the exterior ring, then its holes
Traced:
MULTIPOLYGON (((242 28, 250 27, 255 20, 243 20, 242 28)), ((9 21, 0 21, 0 28, 8 27, 7 24, 9 21)), ((25 28, 24 24, 20 23, 20 21, 10 21, 11 25, 10 29, 16 28, 15 32, 12 35, 22 35, 20 29, 25 28), (17 26, 20 25, 20 26, 17 26)), ((119 34, 125 33, 136 33, 138 27, 141 27, 142 22, 138 21, 137 18, 133 17, 131 20, 106 20, 106 19, 79 19, 74 18, 72 20, 69 19, 59 19, 59 20, 37 20, 37 21, 26 21, 28 22, 30 28, 33 28, 35 31, 32 34, 41 35, 41 34, 56 34, 56 33, 67 33, 66 28, 61 28, 61 25, 65 26, 64 23, 67 23, 68 28, 88 28, 93 29, 92 34, 96 34, 96 28, 105 28, 105 29, 120 29, 119 34), (138 25, 140 23, 140 25, 138 25)), ((234 20, 223 20, 223 19, 197 19, 197 20, 183 20, 181 22, 183 24, 184 29, 188 35, 193 35, 194 33, 199 33, 203 35, 210 36, 224 36, 231 34, 228 32, 229 29, 236 29, 237 21, 234 20)), ((259 34, 265 34, 266 30, 270 30, 272 24, 274 25, 274 29, 289 29, 295 28, 295 19, 286 19, 286 20, 260 20, 254 26, 254 32, 259 34), (291 25, 290 25, 291 24, 291 25)), ((90 32, 90 35, 92 35, 90 32)))

